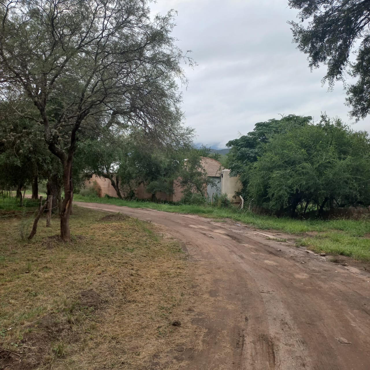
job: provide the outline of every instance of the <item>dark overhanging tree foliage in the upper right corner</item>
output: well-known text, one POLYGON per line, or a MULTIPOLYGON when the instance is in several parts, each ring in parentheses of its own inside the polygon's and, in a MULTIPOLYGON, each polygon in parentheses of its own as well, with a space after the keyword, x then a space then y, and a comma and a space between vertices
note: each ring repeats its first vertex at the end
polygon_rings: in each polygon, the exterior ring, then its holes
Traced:
POLYGON ((357 78, 347 86, 347 104, 353 117, 370 112, 370 3, 368 0, 289 0, 299 9, 292 26, 293 41, 308 55, 311 69, 327 66, 323 82, 333 87, 346 81, 346 73, 357 78), (351 55, 356 57, 353 63, 351 55))

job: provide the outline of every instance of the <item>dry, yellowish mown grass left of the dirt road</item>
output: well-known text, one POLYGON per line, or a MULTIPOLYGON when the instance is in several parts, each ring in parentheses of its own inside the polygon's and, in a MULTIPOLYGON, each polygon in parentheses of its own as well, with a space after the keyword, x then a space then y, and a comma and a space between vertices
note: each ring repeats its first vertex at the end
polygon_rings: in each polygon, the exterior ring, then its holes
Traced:
POLYGON ((75 207, 72 243, 57 218, 25 242, 32 221, 0 219, 1 369, 147 369, 192 340, 194 272, 153 225, 75 207))

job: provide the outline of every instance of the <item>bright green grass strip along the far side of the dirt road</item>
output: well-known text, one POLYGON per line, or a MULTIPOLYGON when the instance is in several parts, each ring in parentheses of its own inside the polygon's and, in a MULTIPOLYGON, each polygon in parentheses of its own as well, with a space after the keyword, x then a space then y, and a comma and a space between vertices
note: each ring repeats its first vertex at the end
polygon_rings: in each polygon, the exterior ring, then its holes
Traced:
POLYGON ((278 230, 292 235, 300 235, 297 245, 305 246, 316 252, 326 252, 350 256, 354 259, 370 262, 370 220, 359 221, 335 219, 296 220, 255 215, 248 211, 234 208, 215 208, 196 205, 169 205, 152 202, 124 201, 112 198, 98 198, 74 195, 75 201, 107 203, 132 208, 152 208, 158 211, 191 213, 213 219, 229 218, 262 230, 278 230), (312 234, 315 235, 312 235, 312 234), (307 235, 311 234, 311 235, 307 235))

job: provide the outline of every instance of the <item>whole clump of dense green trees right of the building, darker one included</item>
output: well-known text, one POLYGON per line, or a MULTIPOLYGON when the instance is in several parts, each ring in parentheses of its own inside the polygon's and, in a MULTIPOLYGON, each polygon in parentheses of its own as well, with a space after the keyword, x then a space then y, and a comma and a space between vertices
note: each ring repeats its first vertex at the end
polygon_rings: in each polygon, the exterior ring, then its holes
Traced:
POLYGON ((232 175, 248 204, 311 218, 370 205, 370 137, 340 119, 289 115, 229 141, 232 175))

